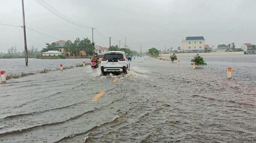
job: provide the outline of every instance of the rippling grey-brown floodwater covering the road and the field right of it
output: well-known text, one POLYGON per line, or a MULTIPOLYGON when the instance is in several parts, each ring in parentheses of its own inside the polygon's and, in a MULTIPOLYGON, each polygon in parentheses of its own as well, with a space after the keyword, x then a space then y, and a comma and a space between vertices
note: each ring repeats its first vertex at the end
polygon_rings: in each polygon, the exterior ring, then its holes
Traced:
POLYGON ((203 58, 194 70, 192 57, 136 57, 126 75, 86 66, 0 83, 0 142, 256 142, 256 55, 203 58))

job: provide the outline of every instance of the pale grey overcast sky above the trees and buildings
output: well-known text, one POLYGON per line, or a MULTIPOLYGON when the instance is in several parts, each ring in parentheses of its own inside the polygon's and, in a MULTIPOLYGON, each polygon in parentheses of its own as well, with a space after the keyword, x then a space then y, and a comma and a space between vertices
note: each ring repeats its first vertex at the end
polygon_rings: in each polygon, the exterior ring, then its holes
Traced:
MULTIPOLYGON (((37 0, 41 1, 42 0, 37 0)), ((26 27, 49 36, 72 40, 92 39, 91 28, 82 28, 59 18, 36 0, 24 0, 26 27)), ((205 44, 235 42, 256 44, 256 0, 44 0, 73 21, 95 27, 96 45, 126 44, 142 51, 181 45, 183 37, 204 36, 205 44)), ((0 0, 0 24, 23 25, 21 0, 0 0)), ((0 52, 16 46, 24 49, 23 28, 0 25, 0 52)), ((28 49, 41 50, 58 41, 26 29, 28 49)), ((166 48, 166 49, 167 49, 166 48)))

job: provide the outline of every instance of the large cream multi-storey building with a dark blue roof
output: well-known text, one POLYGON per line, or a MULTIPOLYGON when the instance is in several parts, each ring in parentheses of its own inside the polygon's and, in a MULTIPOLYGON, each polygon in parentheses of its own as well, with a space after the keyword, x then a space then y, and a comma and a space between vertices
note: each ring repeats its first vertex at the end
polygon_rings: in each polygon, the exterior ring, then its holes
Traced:
POLYGON ((204 37, 195 36, 195 37, 185 37, 181 41, 180 51, 184 52, 204 52, 204 37))

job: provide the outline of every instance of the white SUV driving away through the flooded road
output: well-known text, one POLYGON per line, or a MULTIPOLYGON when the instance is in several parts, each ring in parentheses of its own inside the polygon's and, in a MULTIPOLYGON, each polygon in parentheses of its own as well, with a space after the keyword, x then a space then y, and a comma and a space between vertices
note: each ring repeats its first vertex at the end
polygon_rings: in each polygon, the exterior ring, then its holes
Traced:
POLYGON ((124 51, 105 52, 101 59, 101 72, 105 76, 107 73, 127 73, 130 70, 130 62, 124 51))

